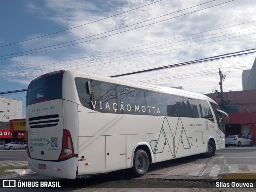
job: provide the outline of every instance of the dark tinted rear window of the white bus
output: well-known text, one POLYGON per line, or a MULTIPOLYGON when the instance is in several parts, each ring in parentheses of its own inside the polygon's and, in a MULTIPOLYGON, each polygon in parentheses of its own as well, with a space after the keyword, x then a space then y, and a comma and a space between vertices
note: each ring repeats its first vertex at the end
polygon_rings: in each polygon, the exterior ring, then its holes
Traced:
POLYGON ((55 73, 30 83, 26 106, 52 99, 62 99, 62 77, 63 73, 55 73))

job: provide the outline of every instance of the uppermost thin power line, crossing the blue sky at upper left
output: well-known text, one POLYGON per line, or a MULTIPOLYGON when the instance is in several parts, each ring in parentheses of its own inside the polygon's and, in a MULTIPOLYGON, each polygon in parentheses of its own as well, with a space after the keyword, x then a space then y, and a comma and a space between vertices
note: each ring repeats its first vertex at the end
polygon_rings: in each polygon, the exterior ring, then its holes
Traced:
POLYGON ((139 9, 139 8, 142 8, 142 7, 145 7, 145 6, 154 4, 154 3, 158 3, 158 2, 160 2, 160 1, 162 1, 162 0, 158 0, 158 1, 156 1, 156 2, 147 4, 147 5, 144 5, 144 6, 140 6, 140 7, 138 7, 138 8, 134 8, 134 9, 131 9, 131 10, 129 10, 129 11, 125 11, 125 12, 122 12, 122 13, 119 13, 119 14, 116 14, 116 15, 112 15, 112 16, 109 16, 109 17, 106 17, 106 18, 103 18, 103 19, 100 19, 100 20, 96 20, 96 21, 93 21, 93 22, 90 22, 90 23, 87 23, 87 24, 83 24, 83 25, 80 25, 80 26, 76 26, 76 27, 68 28, 68 29, 65 29, 65 30, 58 31, 58 32, 54 32, 54 33, 51 33, 51 34, 39 36, 39 37, 36 37, 36 38, 31 38, 31 39, 28 39, 28 40, 24 40, 24 41, 20 41, 20 42, 8 44, 8 45, 0 46, 0 48, 6 47, 6 46, 10 46, 10 45, 13 45, 13 44, 18 44, 18 43, 21 43, 21 42, 26 42, 26 41, 34 40, 34 39, 37 39, 37 38, 42 38, 42 37, 45 37, 45 36, 50 36, 50 35, 53 35, 53 34, 57 34, 57 33, 60 33, 60 32, 67 31, 67 30, 71 30, 71 29, 74 29, 74 28, 78 28, 78 27, 81 27, 81 26, 85 26, 85 25, 88 25, 88 24, 92 24, 92 23, 95 23, 95 22, 98 22, 98 21, 102 21, 102 20, 105 20, 105 19, 108 19, 108 18, 111 18, 111 17, 114 17, 114 16, 118 16, 118 15, 120 15, 120 14, 124 14, 124 13, 130 12, 130 11, 133 11, 133 10, 136 10, 136 9, 139 9))

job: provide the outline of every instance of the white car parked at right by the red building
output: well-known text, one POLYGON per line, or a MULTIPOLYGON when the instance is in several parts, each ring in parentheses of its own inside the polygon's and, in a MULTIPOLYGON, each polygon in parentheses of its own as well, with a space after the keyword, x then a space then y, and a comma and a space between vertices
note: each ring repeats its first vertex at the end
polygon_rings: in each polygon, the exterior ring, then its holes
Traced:
POLYGON ((252 146, 253 142, 252 140, 248 139, 244 135, 229 135, 225 139, 225 145, 237 145, 237 146, 242 146, 242 145, 249 145, 252 146))

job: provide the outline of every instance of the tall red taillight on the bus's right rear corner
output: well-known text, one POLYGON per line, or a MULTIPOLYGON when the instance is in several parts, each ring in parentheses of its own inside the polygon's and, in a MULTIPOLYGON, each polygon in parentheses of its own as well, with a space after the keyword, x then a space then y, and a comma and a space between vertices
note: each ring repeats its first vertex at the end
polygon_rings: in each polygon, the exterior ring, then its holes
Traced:
POLYGON ((59 160, 70 157, 74 154, 74 147, 70 132, 67 129, 63 129, 63 141, 62 141, 62 150, 59 157, 59 160))

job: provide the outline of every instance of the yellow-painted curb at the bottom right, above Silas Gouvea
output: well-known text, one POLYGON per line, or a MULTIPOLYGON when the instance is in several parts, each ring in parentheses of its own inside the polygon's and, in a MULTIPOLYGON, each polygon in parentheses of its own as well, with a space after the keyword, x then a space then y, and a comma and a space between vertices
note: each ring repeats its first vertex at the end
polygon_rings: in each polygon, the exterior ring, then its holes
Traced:
POLYGON ((234 171, 219 173, 217 176, 220 180, 256 180, 256 171, 234 171))

